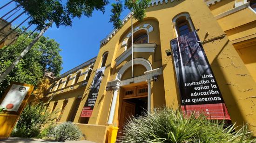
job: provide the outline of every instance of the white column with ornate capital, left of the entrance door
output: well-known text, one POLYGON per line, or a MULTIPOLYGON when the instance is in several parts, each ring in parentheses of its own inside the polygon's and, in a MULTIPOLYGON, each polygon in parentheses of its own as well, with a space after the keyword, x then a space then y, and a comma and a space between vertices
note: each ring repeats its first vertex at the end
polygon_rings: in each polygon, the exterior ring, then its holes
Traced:
MULTIPOLYGON (((113 124, 113 118, 115 115, 115 105, 116 105, 116 101, 117 101, 118 91, 120 89, 120 80, 111 81, 111 83, 112 84, 114 83, 115 85, 112 87, 114 93, 113 93, 113 99, 111 102, 110 112, 108 115, 108 123, 107 124, 113 124)), ((110 83, 110 85, 111 85, 111 83, 110 83)))

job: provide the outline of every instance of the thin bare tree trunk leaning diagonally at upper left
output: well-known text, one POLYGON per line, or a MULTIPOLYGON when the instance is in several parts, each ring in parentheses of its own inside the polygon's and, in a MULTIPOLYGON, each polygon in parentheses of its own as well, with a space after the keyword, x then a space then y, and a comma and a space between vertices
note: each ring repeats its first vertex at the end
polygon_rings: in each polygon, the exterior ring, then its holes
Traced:
POLYGON ((37 37, 33 39, 33 41, 24 49, 20 56, 18 56, 15 61, 0 75, 0 83, 6 78, 6 76, 13 70, 13 68, 20 62, 20 60, 27 54, 27 52, 34 46, 34 44, 39 40, 39 38, 47 31, 50 25, 52 25, 53 21, 50 21, 49 25, 47 25, 44 29, 40 31, 37 37))

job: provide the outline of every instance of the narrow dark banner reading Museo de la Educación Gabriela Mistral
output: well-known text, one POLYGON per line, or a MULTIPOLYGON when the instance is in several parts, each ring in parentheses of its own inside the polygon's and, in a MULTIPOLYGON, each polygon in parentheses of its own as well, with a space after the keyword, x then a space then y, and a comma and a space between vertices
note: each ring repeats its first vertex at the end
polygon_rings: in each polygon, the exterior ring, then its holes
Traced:
POLYGON ((92 82, 92 86, 90 92, 88 94, 88 98, 83 107, 81 117, 91 117, 96 99, 98 97, 99 88, 101 85, 102 75, 104 73, 106 67, 102 67, 96 70, 96 74, 94 76, 94 80, 92 82))

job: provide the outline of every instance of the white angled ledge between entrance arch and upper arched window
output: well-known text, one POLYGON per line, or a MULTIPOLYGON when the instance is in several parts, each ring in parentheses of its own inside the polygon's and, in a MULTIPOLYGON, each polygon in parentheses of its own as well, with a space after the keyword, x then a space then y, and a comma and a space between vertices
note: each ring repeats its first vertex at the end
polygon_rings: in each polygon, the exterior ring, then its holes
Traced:
MULTIPOLYGON (((152 44, 134 44, 134 52, 147 52, 154 53, 157 45, 155 43, 152 44)), ((120 56, 115 59, 116 66, 118 66, 121 62, 123 62, 128 56, 132 54, 132 48, 128 48, 128 50, 124 51, 120 56)))

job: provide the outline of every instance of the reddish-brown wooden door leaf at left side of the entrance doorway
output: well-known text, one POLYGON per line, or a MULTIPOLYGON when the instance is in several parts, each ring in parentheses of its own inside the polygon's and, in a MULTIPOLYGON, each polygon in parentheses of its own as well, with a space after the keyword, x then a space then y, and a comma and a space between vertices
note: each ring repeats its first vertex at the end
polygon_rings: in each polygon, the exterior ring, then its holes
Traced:
MULTIPOLYGON (((129 120, 130 117, 135 115, 135 103, 123 101, 121 116, 119 122, 119 132, 122 131, 123 125, 129 120)), ((118 133, 118 136, 122 136, 121 133, 118 133)))

